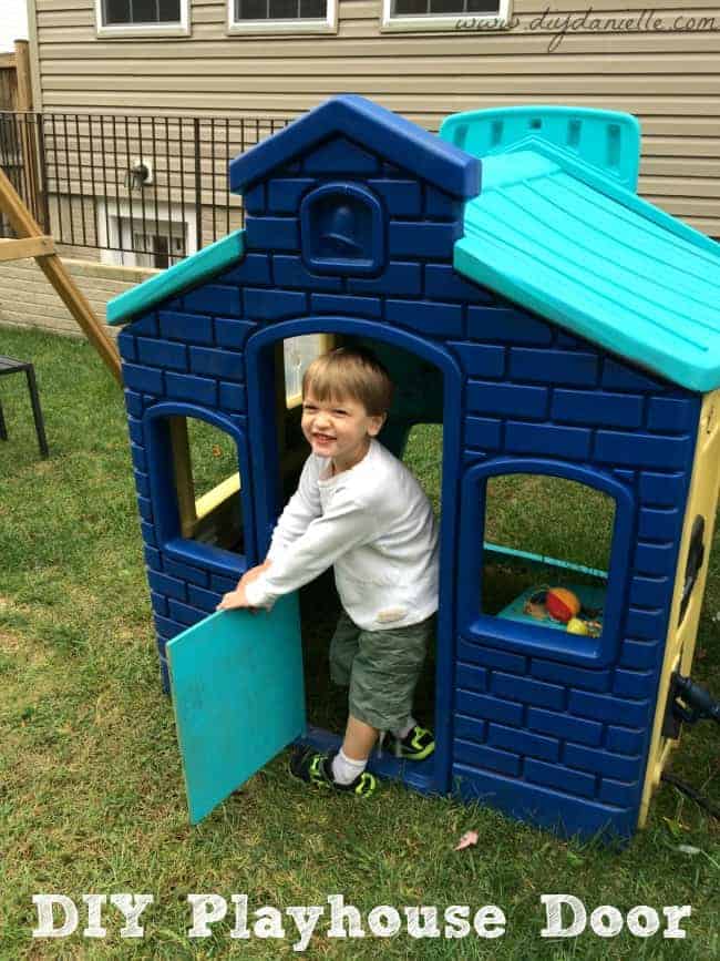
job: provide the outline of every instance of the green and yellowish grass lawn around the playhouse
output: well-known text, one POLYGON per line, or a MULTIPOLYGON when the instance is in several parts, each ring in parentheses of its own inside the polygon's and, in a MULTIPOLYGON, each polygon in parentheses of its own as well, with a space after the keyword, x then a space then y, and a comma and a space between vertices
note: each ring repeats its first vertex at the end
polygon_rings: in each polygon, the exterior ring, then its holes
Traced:
MULTIPOLYGON (((280 756, 196 828, 187 824, 172 708, 161 694, 120 391, 81 340, 0 329, 0 349, 37 365, 51 458, 42 461, 24 384, 0 385, 10 440, 0 444, 0 959, 286 958, 298 940, 186 937, 189 892, 228 903, 247 893, 250 917, 269 904, 326 906, 341 893, 363 919, 379 904, 500 906, 497 940, 329 938, 313 958, 690 958, 720 953, 720 824, 664 786, 646 830, 624 851, 559 840, 481 806, 383 785, 369 804, 306 791, 280 756), (479 845, 453 850, 467 829, 479 845), (685 849, 685 850, 683 850, 685 849), (696 853, 691 851, 696 850, 696 853), (145 938, 121 939, 107 908, 104 940, 35 940, 32 894, 148 892, 145 938), (539 896, 569 892, 590 909, 691 904, 685 941, 541 939, 539 896)), ((434 483, 436 437, 409 447, 434 483)), ((511 504, 517 511, 517 504, 511 504)), ((517 512, 517 524, 525 514, 517 512)), ((502 521, 505 523, 505 521, 502 521)), ((510 521, 508 521, 510 523, 510 521)), ((511 524, 512 525, 512 524, 511 524)), ((718 551, 695 676, 720 694, 718 551)), ((308 640, 321 675, 335 600, 323 584, 304 599, 317 615, 308 640)), ((329 725, 343 706, 319 686, 309 705, 329 725)), ((687 730, 672 769, 720 804, 718 728, 687 730)), ((327 911, 326 911, 327 914, 327 911)), ((85 918, 81 911, 81 927, 85 918)), ((363 922, 367 929, 367 922, 363 922)))

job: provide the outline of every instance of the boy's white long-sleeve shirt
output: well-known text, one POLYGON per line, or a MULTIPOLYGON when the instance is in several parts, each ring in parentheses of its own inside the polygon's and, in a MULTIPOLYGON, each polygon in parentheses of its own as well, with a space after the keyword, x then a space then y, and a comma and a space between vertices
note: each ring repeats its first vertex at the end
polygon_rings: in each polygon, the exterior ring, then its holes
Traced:
POLYGON ((271 566, 245 587, 254 607, 309 583, 329 566, 342 606, 366 631, 404 627, 438 609, 438 530, 405 466, 372 439, 353 468, 330 476, 310 454, 272 533, 271 566))

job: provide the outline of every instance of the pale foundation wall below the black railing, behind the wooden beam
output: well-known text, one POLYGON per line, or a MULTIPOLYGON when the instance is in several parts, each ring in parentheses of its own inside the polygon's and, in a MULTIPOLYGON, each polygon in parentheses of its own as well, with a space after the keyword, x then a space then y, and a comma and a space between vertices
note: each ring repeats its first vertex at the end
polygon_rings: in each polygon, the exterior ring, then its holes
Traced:
MULTIPOLYGON (((109 300, 157 273, 143 267, 111 267, 65 257, 63 263, 101 320, 105 319, 109 300)), ((0 325, 3 324, 82 336, 72 315, 33 259, 0 264, 0 325)), ((117 328, 107 329, 111 334, 117 333, 117 328)), ((0 335, 0 348, 1 340, 0 335)))

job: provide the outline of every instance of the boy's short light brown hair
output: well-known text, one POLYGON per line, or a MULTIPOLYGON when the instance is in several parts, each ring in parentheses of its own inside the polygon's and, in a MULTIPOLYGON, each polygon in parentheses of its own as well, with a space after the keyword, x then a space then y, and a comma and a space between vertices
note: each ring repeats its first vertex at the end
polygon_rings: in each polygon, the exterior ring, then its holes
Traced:
POLYGON ((337 347, 310 364, 302 376, 302 397, 312 390, 318 400, 349 397, 370 417, 387 413, 392 401, 390 375, 371 350, 337 347))

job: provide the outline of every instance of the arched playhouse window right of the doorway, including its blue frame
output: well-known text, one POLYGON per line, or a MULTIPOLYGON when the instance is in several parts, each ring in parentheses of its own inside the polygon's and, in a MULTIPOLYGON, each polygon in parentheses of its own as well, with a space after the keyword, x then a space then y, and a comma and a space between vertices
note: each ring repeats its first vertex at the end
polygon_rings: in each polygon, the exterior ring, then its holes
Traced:
POLYGON ((461 524, 461 632, 535 656, 609 663, 630 515, 621 484, 580 468, 501 460, 471 469, 461 524))

